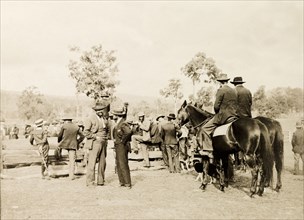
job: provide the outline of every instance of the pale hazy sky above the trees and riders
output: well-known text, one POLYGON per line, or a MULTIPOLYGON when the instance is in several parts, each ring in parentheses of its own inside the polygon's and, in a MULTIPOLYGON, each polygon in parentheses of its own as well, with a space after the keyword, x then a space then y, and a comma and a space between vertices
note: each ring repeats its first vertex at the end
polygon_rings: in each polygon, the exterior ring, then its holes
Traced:
MULTIPOLYGON (((198 52, 252 92, 303 88, 303 1, 1 1, 1 89, 73 96, 69 50, 117 57, 120 94, 159 97, 198 52)), ((206 85, 198 85, 198 87, 206 85)))

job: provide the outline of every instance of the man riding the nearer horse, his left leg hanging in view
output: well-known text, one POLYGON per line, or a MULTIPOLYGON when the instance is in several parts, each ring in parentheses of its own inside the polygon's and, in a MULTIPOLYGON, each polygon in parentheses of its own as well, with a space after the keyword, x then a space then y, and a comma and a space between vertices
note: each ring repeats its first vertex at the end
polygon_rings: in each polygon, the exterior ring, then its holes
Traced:
POLYGON ((214 102, 215 115, 202 126, 202 135, 199 136, 199 145, 203 146, 202 155, 210 158, 213 163, 213 146, 211 134, 216 127, 223 125, 228 119, 237 117, 237 94, 236 91, 228 86, 230 78, 227 74, 220 74, 217 81, 220 82, 220 88, 217 90, 214 102))

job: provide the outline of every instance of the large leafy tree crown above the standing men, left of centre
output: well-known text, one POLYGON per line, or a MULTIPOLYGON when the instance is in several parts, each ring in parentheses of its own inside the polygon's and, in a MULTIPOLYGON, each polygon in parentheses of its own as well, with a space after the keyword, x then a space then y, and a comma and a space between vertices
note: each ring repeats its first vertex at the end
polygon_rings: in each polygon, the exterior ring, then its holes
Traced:
POLYGON ((72 52, 80 53, 78 61, 70 60, 70 76, 76 81, 76 89, 88 97, 98 100, 104 92, 113 95, 118 81, 114 51, 107 51, 101 45, 93 46, 90 51, 80 52, 73 47, 72 52))

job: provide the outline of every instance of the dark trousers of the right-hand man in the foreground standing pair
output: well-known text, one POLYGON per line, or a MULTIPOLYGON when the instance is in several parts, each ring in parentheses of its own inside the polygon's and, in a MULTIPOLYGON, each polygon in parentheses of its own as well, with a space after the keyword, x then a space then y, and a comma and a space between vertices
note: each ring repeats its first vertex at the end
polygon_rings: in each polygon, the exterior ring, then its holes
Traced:
POLYGON ((128 161, 128 147, 122 143, 115 144, 116 166, 121 186, 131 186, 131 174, 128 161))

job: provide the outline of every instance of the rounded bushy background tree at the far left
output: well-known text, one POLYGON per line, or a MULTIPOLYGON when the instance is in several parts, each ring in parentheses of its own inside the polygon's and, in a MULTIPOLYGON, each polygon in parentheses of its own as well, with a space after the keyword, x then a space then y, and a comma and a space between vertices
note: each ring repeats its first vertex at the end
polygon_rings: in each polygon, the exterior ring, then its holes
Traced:
POLYGON ((18 99, 17 106, 20 117, 26 120, 44 116, 44 98, 35 86, 26 88, 18 99))

